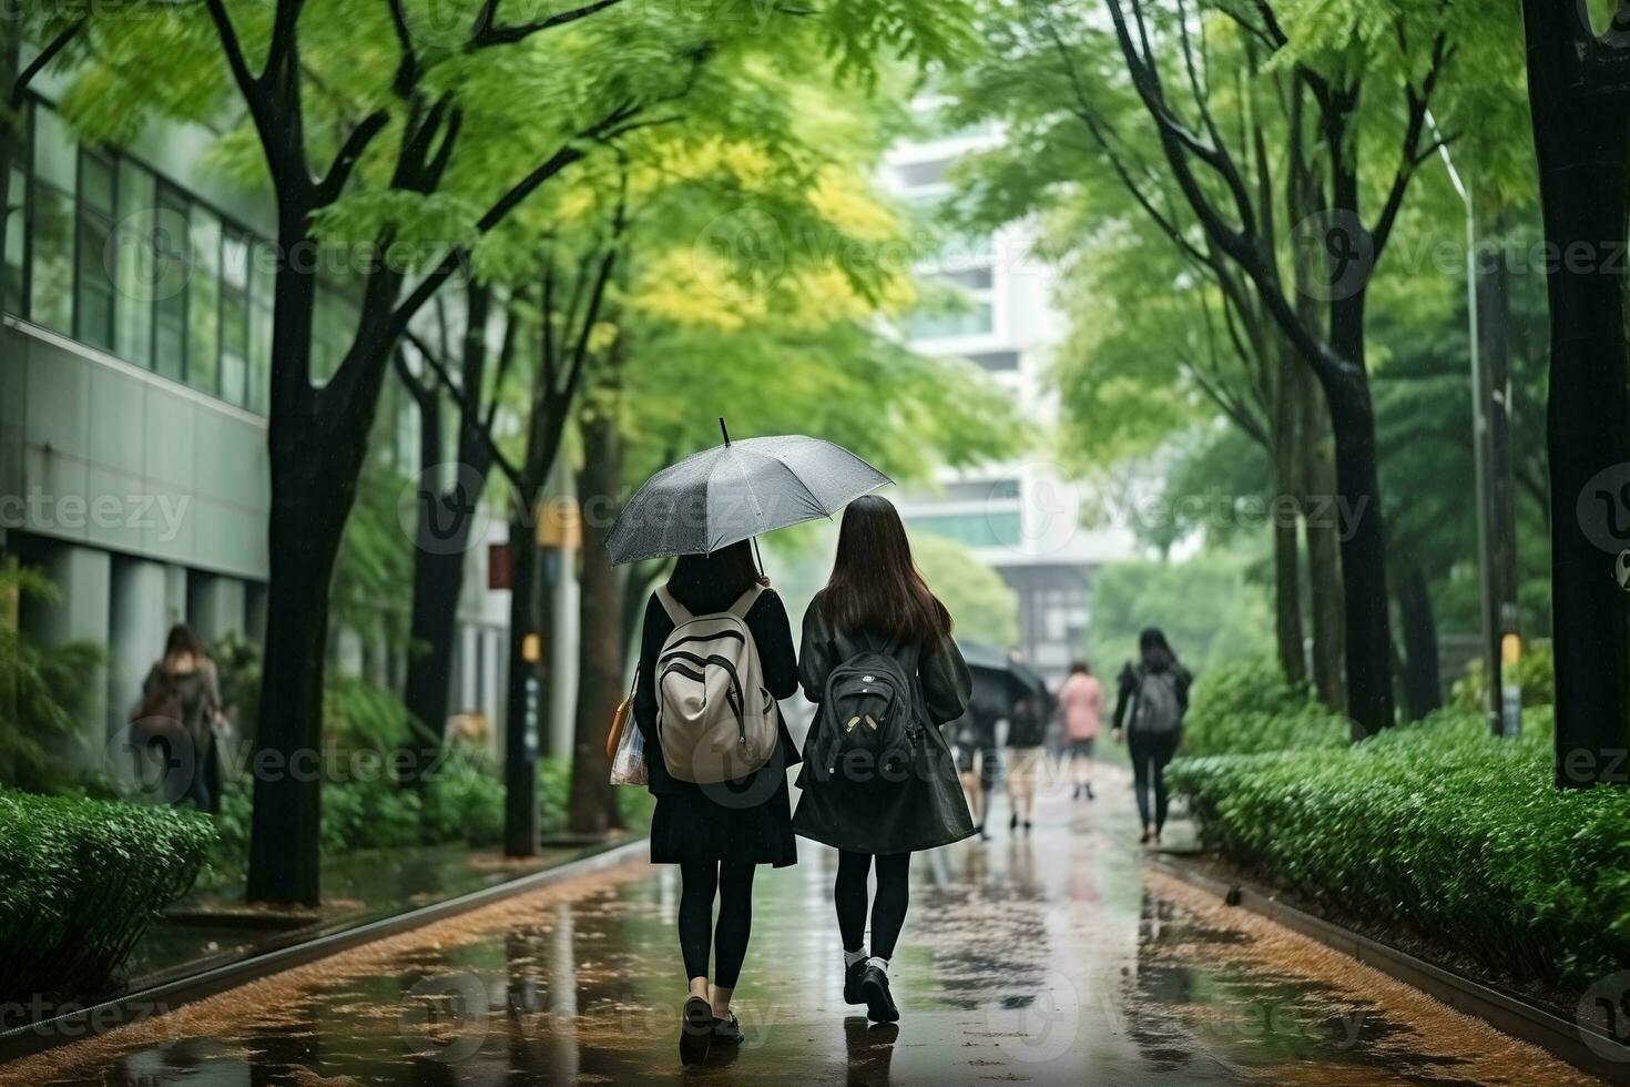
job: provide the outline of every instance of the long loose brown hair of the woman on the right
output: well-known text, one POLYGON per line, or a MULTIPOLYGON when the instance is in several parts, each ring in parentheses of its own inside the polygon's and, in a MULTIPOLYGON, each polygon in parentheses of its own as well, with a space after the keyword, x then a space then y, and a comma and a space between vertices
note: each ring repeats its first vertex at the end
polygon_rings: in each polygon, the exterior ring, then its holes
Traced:
POLYGON ((843 631, 874 631, 934 645, 950 634, 950 613, 911 561, 906 526, 888 499, 869 494, 843 512, 838 557, 820 596, 822 614, 843 631))

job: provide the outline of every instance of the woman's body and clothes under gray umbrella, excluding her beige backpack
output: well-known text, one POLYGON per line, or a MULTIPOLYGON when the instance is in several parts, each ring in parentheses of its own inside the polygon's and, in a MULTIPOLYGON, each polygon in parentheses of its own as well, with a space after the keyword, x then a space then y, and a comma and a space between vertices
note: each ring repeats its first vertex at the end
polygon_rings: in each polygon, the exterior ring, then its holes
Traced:
POLYGON ((797 654, 787 611, 753 562, 748 541, 712 554, 680 556, 667 585, 645 605, 639 650, 634 722, 645 742, 647 787, 657 797, 650 818, 650 862, 680 865, 680 953, 691 991, 680 1025, 680 1059, 698 1064, 711 1045, 742 1041, 730 996, 753 927, 755 867, 797 864, 786 768, 797 763, 799 755, 779 707, 781 699, 797 691, 797 654), (778 702, 779 743, 771 759, 751 774, 724 786, 699 786, 676 779, 663 758, 655 663, 678 623, 732 608, 745 611, 764 691, 778 702), (717 924, 714 898, 719 900, 717 924))

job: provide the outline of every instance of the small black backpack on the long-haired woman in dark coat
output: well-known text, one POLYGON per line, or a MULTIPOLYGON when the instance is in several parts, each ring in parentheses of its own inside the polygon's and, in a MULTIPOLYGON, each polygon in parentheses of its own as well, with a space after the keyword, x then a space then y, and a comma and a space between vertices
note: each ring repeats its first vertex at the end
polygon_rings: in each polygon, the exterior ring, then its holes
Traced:
POLYGON ((810 761, 817 781, 890 787, 911 772, 921 730, 916 678, 888 654, 862 652, 826 676, 810 761))

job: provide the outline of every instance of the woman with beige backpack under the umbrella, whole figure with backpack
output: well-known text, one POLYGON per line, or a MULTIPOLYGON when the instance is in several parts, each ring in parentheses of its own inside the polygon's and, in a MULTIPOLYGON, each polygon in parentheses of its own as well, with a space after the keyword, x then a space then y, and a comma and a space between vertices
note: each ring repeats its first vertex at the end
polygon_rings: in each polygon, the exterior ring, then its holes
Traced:
POLYGON ((797 655, 748 541, 680 556, 645 606, 639 647, 634 722, 657 797, 650 860, 680 865, 689 979, 680 1059, 698 1064, 712 1045, 742 1043, 730 996, 753 924, 753 870, 797 864, 786 768, 799 753, 779 707, 797 691, 797 655))

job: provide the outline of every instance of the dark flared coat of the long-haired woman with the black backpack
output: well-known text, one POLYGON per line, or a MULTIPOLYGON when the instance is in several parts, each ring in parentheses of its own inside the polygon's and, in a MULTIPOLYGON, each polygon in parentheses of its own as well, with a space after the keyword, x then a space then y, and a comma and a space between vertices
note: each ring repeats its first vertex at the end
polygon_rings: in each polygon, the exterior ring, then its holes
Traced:
MULTIPOLYGON (((950 639, 936 647, 896 645, 870 632, 833 631, 820 613, 820 595, 804 613, 799 681, 804 698, 820 702, 826 676, 861 652, 888 654, 906 675, 916 675, 923 691, 924 724, 919 730, 914 771, 900 782, 854 784, 841 776, 820 779, 799 774, 799 810, 792 830, 838 849, 852 852, 918 852, 947 846, 973 834, 968 802, 957 781, 957 768, 939 725, 962 717, 968 706, 971 676, 962 650, 950 639)), ((823 724, 815 717, 815 728, 823 724)))

